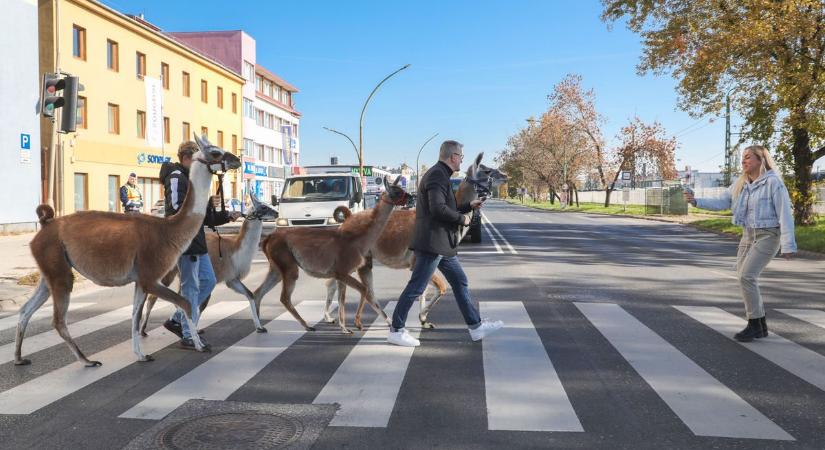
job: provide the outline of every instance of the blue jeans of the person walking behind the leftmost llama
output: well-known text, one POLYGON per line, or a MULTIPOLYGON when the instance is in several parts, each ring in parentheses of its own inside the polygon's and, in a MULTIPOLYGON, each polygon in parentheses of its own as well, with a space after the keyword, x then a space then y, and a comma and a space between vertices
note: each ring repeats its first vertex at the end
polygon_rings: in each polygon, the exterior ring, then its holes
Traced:
MULTIPOLYGON (((209 255, 181 255, 178 259, 178 271, 180 272, 180 293, 187 300, 192 308, 192 323, 197 325, 200 319, 200 305, 212 294, 212 289, 217 284, 215 271, 212 269, 212 262, 209 255), (194 259, 194 261, 193 261, 194 259)), ((178 308, 172 314, 172 320, 181 324, 184 339, 191 339, 192 332, 183 310, 178 308)))

